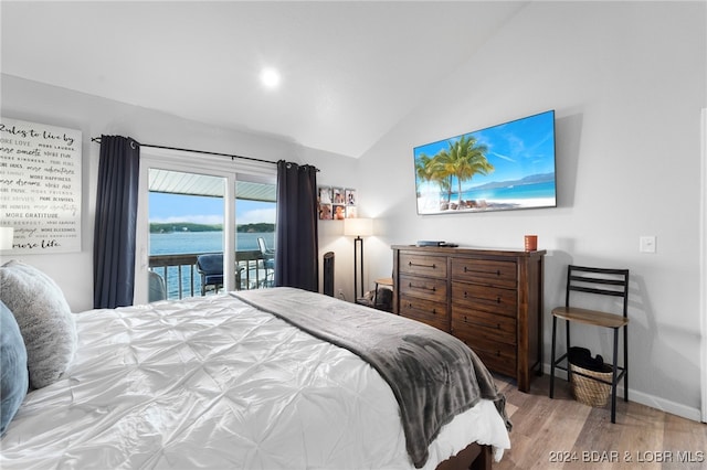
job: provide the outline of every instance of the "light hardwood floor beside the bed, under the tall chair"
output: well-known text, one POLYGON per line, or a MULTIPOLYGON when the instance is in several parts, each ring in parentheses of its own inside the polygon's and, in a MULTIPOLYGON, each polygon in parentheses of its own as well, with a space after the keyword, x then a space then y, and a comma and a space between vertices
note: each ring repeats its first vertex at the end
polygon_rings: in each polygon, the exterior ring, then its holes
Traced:
MULTIPOLYGON (((536 377, 530 393, 496 376, 513 423, 511 449, 494 469, 707 469, 707 424, 616 399, 611 408, 574 400, 569 384, 536 377)), ((631 395, 629 395, 631 399, 631 395)))

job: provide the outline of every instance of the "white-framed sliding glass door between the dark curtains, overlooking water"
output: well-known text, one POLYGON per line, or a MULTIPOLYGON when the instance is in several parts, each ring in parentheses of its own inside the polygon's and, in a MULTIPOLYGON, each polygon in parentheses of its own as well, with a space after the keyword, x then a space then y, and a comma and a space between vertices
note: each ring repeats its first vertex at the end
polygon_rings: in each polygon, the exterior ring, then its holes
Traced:
POLYGON ((135 303, 268 287, 275 165, 182 153, 141 156, 135 303))

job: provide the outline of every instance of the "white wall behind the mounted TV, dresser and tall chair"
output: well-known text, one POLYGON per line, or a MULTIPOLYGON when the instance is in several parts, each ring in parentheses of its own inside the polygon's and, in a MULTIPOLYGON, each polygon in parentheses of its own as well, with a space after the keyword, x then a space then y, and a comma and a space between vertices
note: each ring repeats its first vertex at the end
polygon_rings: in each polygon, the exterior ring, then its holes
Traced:
MULTIPOLYGON (((631 398, 699 419, 705 10, 531 2, 361 158, 359 201, 386 234, 369 278, 390 274, 391 244, 521 249, 537 233, 548 250, 548 363, 566 265, 629 267, 631 398), (413 147, 547 109, 557 113, 557 209, 416 215, 413 147), (641 235, 657 237, 656 254, 639 253, 641 235)), ((577 331, 574 341, 611 351, 595 330, 577 331)))

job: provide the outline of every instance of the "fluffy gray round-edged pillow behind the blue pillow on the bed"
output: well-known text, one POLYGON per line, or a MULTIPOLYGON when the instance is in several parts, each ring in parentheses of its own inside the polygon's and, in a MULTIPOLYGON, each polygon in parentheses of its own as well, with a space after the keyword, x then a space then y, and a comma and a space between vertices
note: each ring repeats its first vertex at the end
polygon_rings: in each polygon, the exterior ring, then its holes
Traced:
POLYGON ((11 260, 0 267, 0 300, 14 316, 27 346, 30 385, 50 385, 76 352, 76 323, 64 293, 49 276, 11 260))

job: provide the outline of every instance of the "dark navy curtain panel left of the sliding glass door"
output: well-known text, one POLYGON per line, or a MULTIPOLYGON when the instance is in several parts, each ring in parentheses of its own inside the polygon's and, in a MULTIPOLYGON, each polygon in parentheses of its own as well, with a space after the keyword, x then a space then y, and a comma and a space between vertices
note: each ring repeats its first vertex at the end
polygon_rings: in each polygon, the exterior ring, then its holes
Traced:
POLYGON ((101 136, 93 247, 96 309, 133 305, 139 165, 138 142, 101 136))

